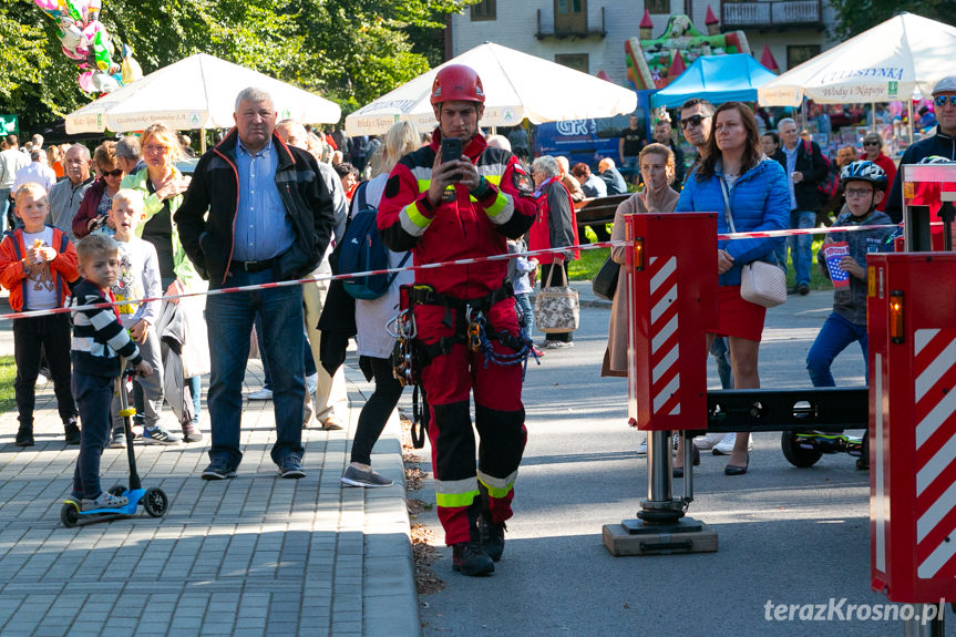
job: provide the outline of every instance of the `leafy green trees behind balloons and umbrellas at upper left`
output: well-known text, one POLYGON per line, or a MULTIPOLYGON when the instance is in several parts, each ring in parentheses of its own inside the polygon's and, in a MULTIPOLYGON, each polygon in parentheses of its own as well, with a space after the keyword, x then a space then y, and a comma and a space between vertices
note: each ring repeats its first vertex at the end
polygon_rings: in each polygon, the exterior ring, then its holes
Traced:
MULTIPOLYGON (((441 61, 445 16, 474 1, 105 0, 101 20, 144 73, 204 52, 348 113, 441 61)), ((90 101, 55 31, 32 0, 0 2, 0 112, 19 114, 27 131, 90 101)))

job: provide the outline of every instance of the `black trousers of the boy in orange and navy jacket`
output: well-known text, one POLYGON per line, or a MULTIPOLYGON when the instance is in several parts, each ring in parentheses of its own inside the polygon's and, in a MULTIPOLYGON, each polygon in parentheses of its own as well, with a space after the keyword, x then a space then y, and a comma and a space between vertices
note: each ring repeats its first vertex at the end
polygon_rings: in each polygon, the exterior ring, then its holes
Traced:
POLYGON ((68 314, 13 320, 13 360, 17 362, 13 390, 21 427, 33 427, 41 348, 47 351, 60 420, 64 423, 75 420, 76 402, 70 389, 70 336, 68 314))

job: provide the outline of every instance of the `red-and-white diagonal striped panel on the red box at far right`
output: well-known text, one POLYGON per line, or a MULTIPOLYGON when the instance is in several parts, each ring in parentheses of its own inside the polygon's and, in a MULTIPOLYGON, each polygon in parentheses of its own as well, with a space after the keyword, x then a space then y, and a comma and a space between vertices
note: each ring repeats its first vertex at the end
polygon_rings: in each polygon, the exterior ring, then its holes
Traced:
POLYGON ((956 577, 956 330, 913 335, 917 575, 956 577))

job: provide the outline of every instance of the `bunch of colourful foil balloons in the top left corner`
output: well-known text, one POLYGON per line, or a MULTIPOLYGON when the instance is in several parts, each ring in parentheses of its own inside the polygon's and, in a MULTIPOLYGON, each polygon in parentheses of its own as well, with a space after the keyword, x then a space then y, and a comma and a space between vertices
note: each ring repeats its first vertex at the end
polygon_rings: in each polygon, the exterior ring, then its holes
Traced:
POLYGON ((123 45, 121 64, 113 61, 113 42, 100 22, 102 0, 33 1, 56 22, 63 54, 82 71, 76 81, 84 92, 110 93, 143 76, 130 47, 123 45))

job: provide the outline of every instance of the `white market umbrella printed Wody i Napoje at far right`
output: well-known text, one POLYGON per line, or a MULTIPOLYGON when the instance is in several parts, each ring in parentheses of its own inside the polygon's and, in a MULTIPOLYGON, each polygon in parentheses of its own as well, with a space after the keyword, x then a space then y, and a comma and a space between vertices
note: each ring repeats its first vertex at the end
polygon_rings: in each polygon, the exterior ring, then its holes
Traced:
POLYGON ((909 101, 953 74, 956 28, 901 13, 757 90, 763 106, 909 101))

